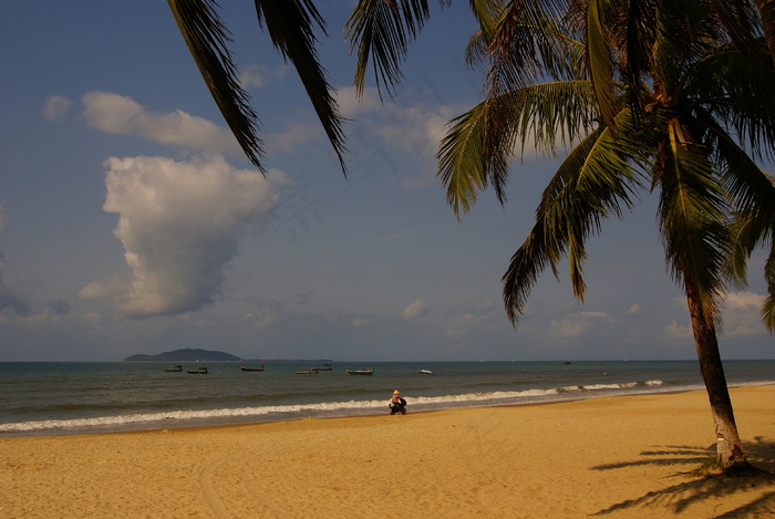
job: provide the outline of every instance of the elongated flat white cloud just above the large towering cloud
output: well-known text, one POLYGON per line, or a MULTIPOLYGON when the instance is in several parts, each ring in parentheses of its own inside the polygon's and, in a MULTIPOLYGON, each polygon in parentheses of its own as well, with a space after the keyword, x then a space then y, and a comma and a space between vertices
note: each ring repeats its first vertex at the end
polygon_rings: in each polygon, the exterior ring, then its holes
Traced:
POLYGON ((83 95, 86 125, 102 132, 132 135, 148 141, 219 154, 239 154, 228 128, 180 110, 156 113, 131 97, 107 92, 83 95))

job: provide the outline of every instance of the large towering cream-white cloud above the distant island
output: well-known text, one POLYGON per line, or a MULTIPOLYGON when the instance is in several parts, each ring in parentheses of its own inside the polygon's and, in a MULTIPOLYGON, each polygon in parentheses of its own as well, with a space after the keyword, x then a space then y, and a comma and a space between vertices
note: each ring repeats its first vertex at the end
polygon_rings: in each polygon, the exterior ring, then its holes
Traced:
POLYGON ((275 208, 271 180, 235 169, 220 156, 112 157, 104 165, 103 209, 118 215, 114 233, 133 277, 128 286, 91 282, 79 295, 113 300, 131 318, 214 303, 240 239, 250 227, 264 226, 275 208))

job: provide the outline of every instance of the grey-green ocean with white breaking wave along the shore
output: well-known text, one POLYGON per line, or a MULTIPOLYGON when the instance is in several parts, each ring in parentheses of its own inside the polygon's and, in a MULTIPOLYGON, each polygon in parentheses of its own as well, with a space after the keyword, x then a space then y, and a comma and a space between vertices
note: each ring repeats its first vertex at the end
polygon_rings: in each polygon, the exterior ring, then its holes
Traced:
MULTIPOLYGON (((322 362, 266 361, 261 372, 186 362, 172 373, 155 362, 0 363, 0 437, 375 415, 388 413, 393 390, 412 413, 704 387, 696 361, 334 362, 296 374, 322 362), (200 366, 206 375, 187 373, 200 366), (374 373, 344 371, 363 367, 374 373)), ((731 387, 775 384, 775 360, 724 366, 731 387)))

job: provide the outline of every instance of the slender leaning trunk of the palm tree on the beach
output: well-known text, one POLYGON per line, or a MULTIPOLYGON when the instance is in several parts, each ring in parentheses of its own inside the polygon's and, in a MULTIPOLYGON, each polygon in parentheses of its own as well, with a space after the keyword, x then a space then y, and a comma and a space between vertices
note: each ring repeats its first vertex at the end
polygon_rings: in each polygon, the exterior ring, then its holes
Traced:
POLYGON ((716 428, 716 463, 724 471, 747 468, 748 461, 737 434, 730 390, 726 386, 724 366, 719 353, 715 325, 703 312, 702 304, 696 297, 696 290, 690 282, 686 282, 686 301, 692 320, 694 345, 700 360, 700 371, 705 382, 707 397, 711 401, 711 413, 716 428))

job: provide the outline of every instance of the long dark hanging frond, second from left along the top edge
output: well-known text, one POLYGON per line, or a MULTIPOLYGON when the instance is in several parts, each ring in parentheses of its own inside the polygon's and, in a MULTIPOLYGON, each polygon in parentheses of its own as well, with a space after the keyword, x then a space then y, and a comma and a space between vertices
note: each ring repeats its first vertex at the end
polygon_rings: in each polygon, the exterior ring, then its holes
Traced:
POLYGON ((313 25, 319 25, 324 32, 322 17, 311 0, 255 1, 259 24, 266 24, 275 48, 293 63, 342 170, 347 174, 343 117, 316 51, 313 25))

